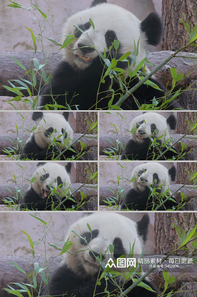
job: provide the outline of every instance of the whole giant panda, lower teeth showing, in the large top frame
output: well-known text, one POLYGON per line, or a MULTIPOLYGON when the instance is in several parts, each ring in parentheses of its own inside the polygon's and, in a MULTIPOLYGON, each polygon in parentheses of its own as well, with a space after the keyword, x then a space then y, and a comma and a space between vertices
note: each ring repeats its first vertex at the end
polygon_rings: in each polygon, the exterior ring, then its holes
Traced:
MULTIPOLYGON (((163 23, 156 12, 150 13, 141 22, 122 7, 108 4, 106 0, 94 0, 90 8, 72 15, 64 24, 62 43, 67 35, 70 35, 73 40, 63 48, 63 59, 53 72, 50 84, 43 88, 41 93, 43 96, 39 105, 44 108, 46 104, 54 104, 55 100, 58 105, 65 106, 65 108, 69 105, 74 110, 76 106, 80 110, 95 110, 108 108, 109 101, 110 104, 115 104, 121 98, 120 84, 124 89, 123 93, 126 93, 139 82, 138 77, 130 78, 128 75, 126 77, 128 64, 132 72, 144 59, 147 45, 157 45, 160 42, 162 32, 163 23), (114 40, 119 42, 119 47, 112 47, 110 51, 109 48, 114 40), (132 55, 138 41, 138 55, 136 64, 133 66, 132 55), (103 61, 101 55, 104 52, 108 60, 103 61), (127 52, 131 52, 128 58, 122 59, 121 56, 127 52), (124 77, 126 77, 127 86, 125 86, 123 76, 123 81, 120 78, 119 83, 117 83, 117 78, 112 78, 113 71, 101 80, 110 64, 109 61, 113 58, 117 61, 120 59, 115 71, 117 72, 118 68, 125 70, 124 77), (110 100, 113 96, 114 100, 110 100)), ((144 76, 144 73, 141 72, 139 76, 144 76)), ((153 77, 150 80, 156 83, 161 90, 142 84, 121 104, 120 108, 123 110, 138 109, 139 105, 144 103, 152 104, 154 97, 163 97, 165 87, 153 77)), ((162 103, 163 99, 159 101, 162 103)), ((174 99, 165 106, 165 109, 174 108, 180 108, 174 99)))

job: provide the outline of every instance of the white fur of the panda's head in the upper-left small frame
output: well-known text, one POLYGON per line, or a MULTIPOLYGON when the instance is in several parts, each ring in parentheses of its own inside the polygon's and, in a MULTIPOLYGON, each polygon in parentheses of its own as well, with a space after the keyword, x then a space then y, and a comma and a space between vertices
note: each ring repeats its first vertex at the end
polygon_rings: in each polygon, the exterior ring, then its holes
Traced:
POLYGON ((63 149, 69 145, 69 140, 72 140, 73 130, 62 114, 44 113, 42 118, 36 120, 36 129, 31 132, 30 138, 26 143, 31 142, 33 137, 41 149, 46 149, 54 138, 59 142, 61 149, 63 149), (50 127, 53 127, 54 130, 47 136, 45 131, 50 127), (62 134, 62 128, 67 133, 66 138, 62 134), (66 141, 67 139, 69 140, 66 141))

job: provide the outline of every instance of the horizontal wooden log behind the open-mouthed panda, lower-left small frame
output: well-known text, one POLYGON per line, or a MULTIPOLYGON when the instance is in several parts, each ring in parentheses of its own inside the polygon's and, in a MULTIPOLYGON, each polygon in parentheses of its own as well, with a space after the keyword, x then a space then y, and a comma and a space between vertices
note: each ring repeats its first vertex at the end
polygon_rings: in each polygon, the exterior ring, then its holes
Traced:
MULTIPOLYGON (((82 184, 71 184, 71 189, 75 191, 77 188, 79 188, 82 184)), ((0 204, 5 204, 2 199, 5 197, 12 198, 16 204, 18 204, 18 200, 15 199, 15 192, 17 189, 21 190, 21 195, 23 195, 23 192, 26 192, 29 185, 23 185, 21 183, 15 184, 0 184, 0 204), (8 190, 9 189, 9 190, 8 190), (10 192, 11 191, 11 192, 10 192)), ((74 197, 79 199, 81 198, 80 192, 84 192, 89 197, 98 197, 98 189, 97 185, 93 184, 85 184, 80 190, 78 190, 76 193, 74 193, 74 197)), ((18 196, 20 198, 20 193, 18 193, 18 196)), ((85 198, 85 200, 88 200, 89 198, 85 198)))

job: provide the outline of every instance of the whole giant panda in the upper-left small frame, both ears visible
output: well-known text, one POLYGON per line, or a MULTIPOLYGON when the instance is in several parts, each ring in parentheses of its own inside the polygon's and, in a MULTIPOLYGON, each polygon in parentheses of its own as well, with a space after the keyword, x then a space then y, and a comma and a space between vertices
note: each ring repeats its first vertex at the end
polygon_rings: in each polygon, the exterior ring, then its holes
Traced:
MULTIPOLYGON (((72 143, 73 130, 68 122, 69 112, 43 113, 34 111, 32 120, 36 121, 36 129, 31 132, 30 137, 21 150, 19 159, 30 160, 52 160, 72 143), (55 143, 54 143, 55 138, 55 143)), ((61 154, 58 159, 80 159, 78 151, 72 146, 61 154)))

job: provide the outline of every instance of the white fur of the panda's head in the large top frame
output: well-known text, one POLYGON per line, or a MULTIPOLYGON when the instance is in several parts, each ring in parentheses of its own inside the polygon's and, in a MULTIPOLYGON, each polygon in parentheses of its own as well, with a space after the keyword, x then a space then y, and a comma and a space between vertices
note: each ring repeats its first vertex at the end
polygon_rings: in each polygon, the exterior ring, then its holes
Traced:
MULTIPOLYGON (((89 19, 93 21, 95 29, 90 26, 90 28, 85 31, 85 34, 81 34, 79 39, 72 41, 69 48, 63 48, 63 59, 70 65, 77 65, 80 69, 86 69, 100 53, 104 53, 104 49, 107 51, 108 46, 105 40, 107 30, 116 32, 117 40, 121 40, 122 53, 128 51, 133 52, 134 41, 137 45, 139 40, 139 53, 136 56, 136 65, 144 59, 147 40, 144 32, 140 30, 141 21, 128 10, 115 4, 101 3, 77 12, 75 15, 68 18, 63 26, 62 34, 74 35, 77 28, 73 27, 73 25, 85 24, 89 22, 89 19), (85 56, 83 56, 78 46, 79 43, 85 46, 94 46, 95 50, 90 53, 85 53, 85 56)), ((62 43, 65 38, 66 37, 63 36, 62 43)), ((132 53, 129 56, 132 59, 132 53)), ((133 66, 131 64, 130 69, 132 70, 132 68, 133 66)))

